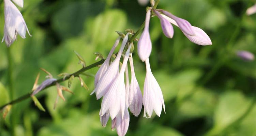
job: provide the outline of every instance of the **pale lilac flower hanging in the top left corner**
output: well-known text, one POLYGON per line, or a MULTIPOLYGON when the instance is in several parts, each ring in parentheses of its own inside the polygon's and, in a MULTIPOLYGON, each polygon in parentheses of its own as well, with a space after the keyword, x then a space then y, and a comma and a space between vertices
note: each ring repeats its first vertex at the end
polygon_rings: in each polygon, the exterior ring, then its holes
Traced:
MULTIPOLYGON (((17 2, 18 5, 23 6, 23 2, 20 0, 16 0, 15 2, 17 2)), ((5 40, 8 47, 16 39, 17 33, 21 38, 26 38, 26 31, 29 36, 31 36, 24 18, 11 0, 4 0, 4 20, 4 36, 2 42, 5 40)))

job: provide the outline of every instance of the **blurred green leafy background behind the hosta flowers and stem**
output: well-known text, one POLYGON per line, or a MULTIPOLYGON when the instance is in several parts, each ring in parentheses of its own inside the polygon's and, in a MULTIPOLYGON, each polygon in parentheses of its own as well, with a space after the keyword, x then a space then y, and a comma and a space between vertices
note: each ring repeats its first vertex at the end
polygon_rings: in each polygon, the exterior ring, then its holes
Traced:
MULTIPOLYGON (((166 114, 143 118, 130 114, 127 136, 255 136, 256 135, 256 61, 246 62, 236 56, 237 50, 256 54, 256 14, 245 11, 256 1, 167 1, 158 8, 188 20, 203 29, 212 46, 198 46, 174 27, 172 39, 164 36, 160 21, 150 20, 152 72, 160 84, 166 114)), ((8 67, 7 47, 0 46, 1 105, 28 93, 38 72, 39 83, 45 80, 44 68, 58 78, 59 73, 73 73, 81 68, 73 50, 87 65, 94 62, 94 52, 104 57, 117 38, 115 31, 136 31, 145 19, 145 6, 135 1, 43 1, 25 0, 19 8, 32 35, 17 37, 10 47, 12 69, 8 67), (13 84, 10 85, 9 70, 13 84)), ((149 6, 149 3, 148 3, 149 6)), ((3 37, 4 3, 1 1, 1 34, 3 37)), ((139 38, 139 37, 137 37, 139 38)), ((145 64, 137 55, 135 73, 143 90, 145 64)), ((98 68, 87 72, 95 74, 98 68)), ((36 97, 45 107, 40 111, 32 99, 13 105, 6 119, 1 113, 1 136, 105 136, 117 135, 111 123, 102 128, 99 119, 101 100, 96 101, 94 78, 85 77, 90 90, 80 87, 77 78, 71 90, 64 92, 66 102, 50 87, 36 97)), ((62 85, 67 86, 67 81, 62 85)))

